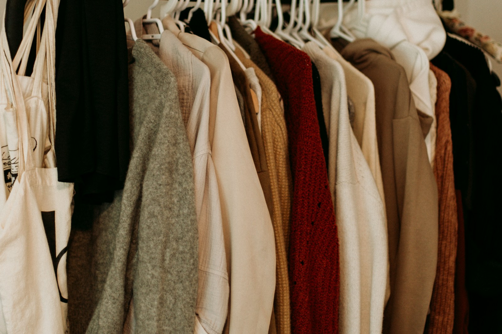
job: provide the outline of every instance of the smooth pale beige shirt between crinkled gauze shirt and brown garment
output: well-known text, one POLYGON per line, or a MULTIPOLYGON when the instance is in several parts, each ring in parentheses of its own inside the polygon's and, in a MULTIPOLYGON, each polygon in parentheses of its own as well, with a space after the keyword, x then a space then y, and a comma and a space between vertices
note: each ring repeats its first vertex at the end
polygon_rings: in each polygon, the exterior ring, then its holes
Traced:
MULTIPOLYGON (((211 77, 209 142, 218 182, 230 302, 225 333, 268 333, 276 286, 275 240, 265 196, 247 143, 225 53, 163 20, 211 77)), ((219 298, 220 296, 215 296, 219 298)))

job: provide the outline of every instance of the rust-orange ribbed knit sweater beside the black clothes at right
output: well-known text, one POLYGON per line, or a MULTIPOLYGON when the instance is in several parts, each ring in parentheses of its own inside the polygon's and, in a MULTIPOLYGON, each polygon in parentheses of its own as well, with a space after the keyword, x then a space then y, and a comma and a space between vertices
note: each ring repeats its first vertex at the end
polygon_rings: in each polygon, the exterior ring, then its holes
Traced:
POLYGON ((458 230, 450 129, 451 81, 445 72, 432 64, 431 69, 437 79, 437 136, 433 171, 438 184, 439 234, 438 263, 427 332, 450 334, 455 318, 454 284, 458 230))

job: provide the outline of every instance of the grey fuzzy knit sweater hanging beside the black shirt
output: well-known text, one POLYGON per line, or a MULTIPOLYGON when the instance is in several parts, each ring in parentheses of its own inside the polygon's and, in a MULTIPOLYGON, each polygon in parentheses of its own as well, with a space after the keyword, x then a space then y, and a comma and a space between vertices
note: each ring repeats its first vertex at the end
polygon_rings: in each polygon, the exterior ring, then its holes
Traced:
POLYGON ((72 334, 121 333, 132 297, 138 333, 194 330, 198 235, 176 78, 144 41, 133 56, 124 189, 113 203, 74 216, 93 224, 73 233, 68 251, 72 334))

